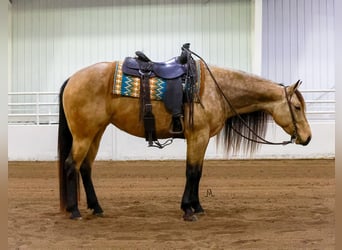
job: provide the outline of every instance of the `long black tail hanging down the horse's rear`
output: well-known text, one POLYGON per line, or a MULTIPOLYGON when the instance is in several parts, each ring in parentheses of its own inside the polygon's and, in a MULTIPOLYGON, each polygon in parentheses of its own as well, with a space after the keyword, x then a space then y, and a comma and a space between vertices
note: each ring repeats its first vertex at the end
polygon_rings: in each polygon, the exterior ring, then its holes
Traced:
POLYGON ((61 211, 66 210, 66 171, 65 171, 65 160, 68 158, 71 146, 72 146, 72 135, 68 127, 68 123, 64 113, 63 106, 63 93, 64 88, 67 85, 69 79, 67 79, 59 93, 59 125, 58 125, 58 172, 59 172, 59 199, 61 211))

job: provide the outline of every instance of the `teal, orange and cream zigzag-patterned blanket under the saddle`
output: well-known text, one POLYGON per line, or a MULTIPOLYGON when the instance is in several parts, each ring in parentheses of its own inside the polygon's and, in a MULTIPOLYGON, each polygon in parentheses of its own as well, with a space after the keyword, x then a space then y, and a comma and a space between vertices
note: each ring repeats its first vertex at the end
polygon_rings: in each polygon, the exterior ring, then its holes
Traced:
MULTIPOLYGON (((197 77, 196 90, 200 95, 201 88, 201 65, 199 61, 196 61, 197 77)), ((166 80, 159 77, 150 78, 150 97, 151 100, 163 100, 166 91, 166 80)), ((135 97, 140 96, 140 77, 126 75, 122 72, 122 62, 116 63, 116 69, 114 74, 113 93, 115 95, 135 97)), ((197 98, 195 98, 197 102, 197 98)))

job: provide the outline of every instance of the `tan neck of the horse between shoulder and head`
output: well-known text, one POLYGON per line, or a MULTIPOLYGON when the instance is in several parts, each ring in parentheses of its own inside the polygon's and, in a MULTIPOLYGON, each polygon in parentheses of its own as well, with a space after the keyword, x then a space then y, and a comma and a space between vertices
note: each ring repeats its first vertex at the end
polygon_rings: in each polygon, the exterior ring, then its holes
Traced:
POLYGON ((238 113, 272 113, 274 104, 283 98, 283 87, 259 76, 225 70, 222 80, 222 89, 238 113))

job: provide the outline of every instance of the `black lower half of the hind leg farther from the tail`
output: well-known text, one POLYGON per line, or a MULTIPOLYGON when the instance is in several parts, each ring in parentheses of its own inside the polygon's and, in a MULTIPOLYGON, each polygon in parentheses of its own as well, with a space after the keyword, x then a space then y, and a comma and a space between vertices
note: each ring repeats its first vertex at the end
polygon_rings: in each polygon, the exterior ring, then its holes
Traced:
POLYGON ((93 209, 93 214, 101 215, 103 210, 97 200, 93 181, 91 179, 91 167, 86 161, 80 168, 84 190, 86 192, 87 204, 89 209, 93 209))

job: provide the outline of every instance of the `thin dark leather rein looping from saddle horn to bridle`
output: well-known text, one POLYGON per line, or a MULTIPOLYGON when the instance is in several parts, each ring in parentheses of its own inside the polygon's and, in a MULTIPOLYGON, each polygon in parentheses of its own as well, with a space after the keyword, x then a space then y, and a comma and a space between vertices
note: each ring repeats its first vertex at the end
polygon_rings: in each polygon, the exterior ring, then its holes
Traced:
POLYGON ((235 133, 237 133, 238 135, 242 136, 243 138, 245 138, 246 140, 249 140, 251 142, 255 142, 255 143, 260 143, 260 144, 268 144, 268 145, 287 145, 290 143, 294 143, 296 137, 297 137, 297 126, 296 126, 296 120, 294 117, 294 113, 290 104, 290 99, 288 96, 288 93, 286 91, 286 86, 284 86, 283 84, 281 84, 284 87, 284 91, 285 91, 285 96, 286 96, 286 101, 289 105, 289 110, 290 110, 290 114, 291 114, 291 118, 292 118, 292 123, 294 126, 294 134, 291 136, 291 139, 288 141, 283 141, 283 142, 271 142, 266 140, 265 138, 262 138, 261 136, 259 136, 250 126, 248 126, 247 122, 241 117, 241 115, 236 111, 236 109, 234 108, 233 104, 231 103, 231 101, 228 99, 228 97, 224 94, 221 86, 218 84, 216 78, 214 77, 214 74, 212 73, 212 71, 210 70, 208 64, 206 63, 206 61, 199 56, 198 54, 196 54, 195 52, 191 51, 188 48, 182 47, 182 49, 186 50, 187 52, 189 52, 190 54, 193 54, 194 56, 198 57, 205 65, 206 69, 208 70, 211 78, 213 79, 215 85, 217 86, 217 88, 219 89, 221 95, 223 96, 223 98, 226 100, 226 102, 228 103, 229 107, 233 110, 233 112, 235 113, 235 115, 241 120, 241 122, 247 127, 247 129, 253 134, 255 135, 259 140, 254 140, 252 138, 249 138, 243 134, 241 134, 239 131, 237 131, 234 127, 232 127, 232 129, 234 130, 235 133))

